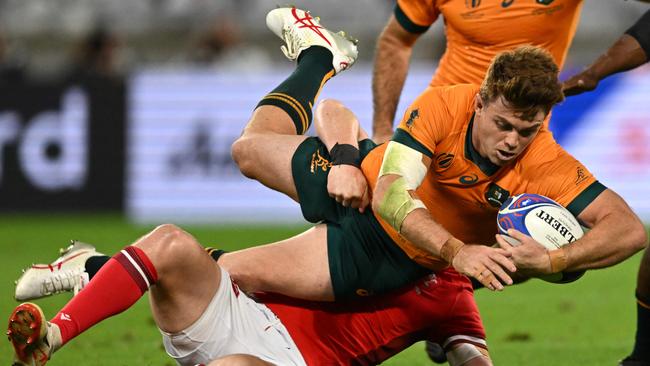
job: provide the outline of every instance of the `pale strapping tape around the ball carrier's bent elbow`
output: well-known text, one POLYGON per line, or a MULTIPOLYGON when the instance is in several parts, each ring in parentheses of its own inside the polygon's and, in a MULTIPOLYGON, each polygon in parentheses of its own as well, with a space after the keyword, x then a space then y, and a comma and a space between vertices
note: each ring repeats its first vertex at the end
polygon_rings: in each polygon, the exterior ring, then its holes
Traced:
POLYGON ((430 164, 430 155, 397 141, 388 143, 373 194, 373 208, 398 232, 408 214, 425 208, 415 190, 430 164))

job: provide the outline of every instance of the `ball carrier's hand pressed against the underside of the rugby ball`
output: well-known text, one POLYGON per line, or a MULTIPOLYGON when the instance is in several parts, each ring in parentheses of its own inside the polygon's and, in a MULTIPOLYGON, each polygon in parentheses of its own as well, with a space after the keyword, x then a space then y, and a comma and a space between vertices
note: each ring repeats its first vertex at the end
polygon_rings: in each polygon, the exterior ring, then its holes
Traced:
POLYGON ((521 244, 513 246, 501 234, 496 235, 497 243, 511 254, 512 261, 522 273, 529 276, 552 273, 546 247, 516 229, 509 229, 508 236, 516 239, 521 244))

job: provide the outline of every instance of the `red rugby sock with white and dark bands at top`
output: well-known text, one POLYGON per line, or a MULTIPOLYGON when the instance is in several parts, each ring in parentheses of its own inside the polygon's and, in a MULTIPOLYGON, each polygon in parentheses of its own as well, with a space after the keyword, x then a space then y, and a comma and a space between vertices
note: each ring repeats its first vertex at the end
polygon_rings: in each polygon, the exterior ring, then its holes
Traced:
POLYGON ((147 255, 128 246, 113 256, 52 320, 63 344, 96 323, 131 307, 158 279, 147 255))

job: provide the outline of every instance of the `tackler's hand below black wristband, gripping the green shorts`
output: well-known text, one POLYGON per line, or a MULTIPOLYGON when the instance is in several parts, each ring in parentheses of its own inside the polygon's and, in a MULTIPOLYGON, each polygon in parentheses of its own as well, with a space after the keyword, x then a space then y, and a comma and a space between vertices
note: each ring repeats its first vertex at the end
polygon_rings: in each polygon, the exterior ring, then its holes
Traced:
POLYGON ((370 204, 368 182, 361 169, 352 165, 334 165, 327 176, 327 193, 345 207, 363 213, 370 204))

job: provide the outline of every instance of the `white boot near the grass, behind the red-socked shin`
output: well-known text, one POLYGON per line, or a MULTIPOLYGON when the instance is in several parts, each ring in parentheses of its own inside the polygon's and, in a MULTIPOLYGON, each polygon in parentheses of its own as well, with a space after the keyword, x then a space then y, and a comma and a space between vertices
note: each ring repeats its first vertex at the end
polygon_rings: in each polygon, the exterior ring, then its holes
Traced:
POLYGON ((61 256, 51 264, 33 264, 23 270, 23 275, 16 281, 16 300, 38 299, 61 292, 76 295, 89 282, 86 260, 100 255, 104 254, 92 245, 72 241, 72 245, 62 249, 61 256))

